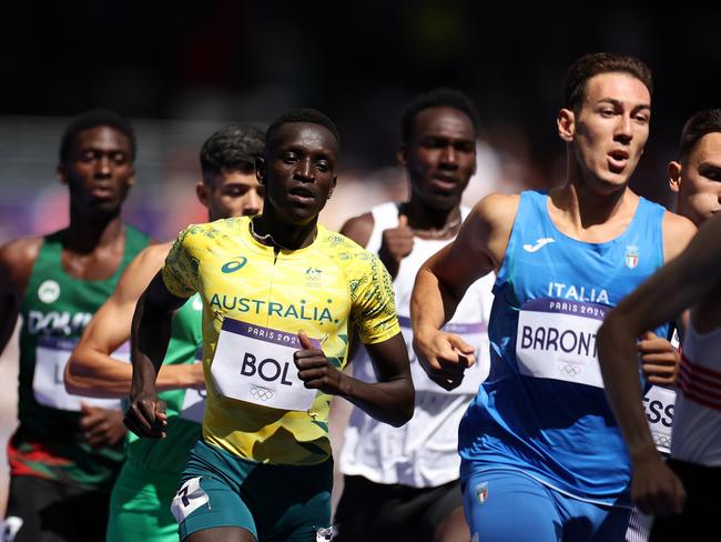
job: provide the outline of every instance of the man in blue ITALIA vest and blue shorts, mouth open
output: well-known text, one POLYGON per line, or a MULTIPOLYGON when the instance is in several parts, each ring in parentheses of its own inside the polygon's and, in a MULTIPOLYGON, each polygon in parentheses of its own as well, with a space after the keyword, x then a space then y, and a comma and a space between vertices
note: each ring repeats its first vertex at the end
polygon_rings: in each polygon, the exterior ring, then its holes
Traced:
MULTIPOLYGON (((478 540, 622 540, 626 532, 629 460, 595 335, 608 309, 695 230, 628 188, 648 139, 651 88, 650 70, 632 57, 577 60, 557 119, 566 184, 481 200, 418 273, 414 345, 431 378, 451 388, 474 348, 438 329, 471 282, 497 271, 490 375, 459 431, 466 519, 478 540)), ((661 381, 672 377, 668 341, 649 335, 639 350, 644 361, 662 358, 661 381)))

